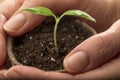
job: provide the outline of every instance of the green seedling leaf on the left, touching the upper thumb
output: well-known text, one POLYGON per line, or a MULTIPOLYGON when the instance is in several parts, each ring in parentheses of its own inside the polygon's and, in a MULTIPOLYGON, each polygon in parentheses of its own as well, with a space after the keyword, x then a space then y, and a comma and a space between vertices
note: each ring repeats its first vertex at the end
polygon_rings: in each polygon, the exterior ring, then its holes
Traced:
POLYGON ((39 14, 43 16, 54 16, 54 13, 46 7, 26 8, 26 9, 23 9, 23 11, 28 11, 33 14, 39 14))

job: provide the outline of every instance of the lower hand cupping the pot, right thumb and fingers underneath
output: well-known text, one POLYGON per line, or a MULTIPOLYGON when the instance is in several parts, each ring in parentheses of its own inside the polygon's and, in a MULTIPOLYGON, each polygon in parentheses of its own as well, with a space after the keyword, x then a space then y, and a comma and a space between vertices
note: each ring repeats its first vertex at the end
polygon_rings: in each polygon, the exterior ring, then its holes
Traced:
POLYGON ((30 80, 118 80, 120 79, 119 27, 120 20, 107 31, 78 45, 66 57, 65 68, 68 72, 77 74, 45 72, 33 67, 15 66, 5 72, 4 76, 10 79, 30 80))

